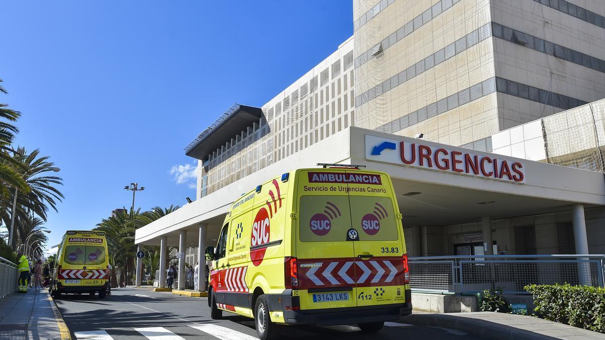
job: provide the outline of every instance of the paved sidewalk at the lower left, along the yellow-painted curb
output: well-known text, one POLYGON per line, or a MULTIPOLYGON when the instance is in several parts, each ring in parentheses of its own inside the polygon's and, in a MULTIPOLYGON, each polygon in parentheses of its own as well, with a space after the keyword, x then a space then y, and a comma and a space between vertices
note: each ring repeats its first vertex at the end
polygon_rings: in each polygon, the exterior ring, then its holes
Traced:
POLYGON ((0 339, 70 339, 47 290, 30 288, 0 300, 0 339))

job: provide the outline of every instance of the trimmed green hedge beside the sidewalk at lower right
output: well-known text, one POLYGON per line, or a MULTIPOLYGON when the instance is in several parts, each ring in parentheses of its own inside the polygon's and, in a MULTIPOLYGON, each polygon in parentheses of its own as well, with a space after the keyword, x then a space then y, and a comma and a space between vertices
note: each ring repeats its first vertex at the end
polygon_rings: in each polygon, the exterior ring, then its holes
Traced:
POLYGON ((541 318, 605 333, 605 288, 531 284, 525 290, 534 296, 541 318))

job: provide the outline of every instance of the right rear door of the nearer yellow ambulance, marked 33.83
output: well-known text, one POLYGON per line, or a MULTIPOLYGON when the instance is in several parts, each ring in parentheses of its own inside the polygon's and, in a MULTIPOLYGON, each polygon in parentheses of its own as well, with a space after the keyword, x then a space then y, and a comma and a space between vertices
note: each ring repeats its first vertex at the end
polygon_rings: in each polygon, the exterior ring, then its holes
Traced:
POLYGON ((347 170, 358 306, 405 303, 404 233, 387 175, 347 170))

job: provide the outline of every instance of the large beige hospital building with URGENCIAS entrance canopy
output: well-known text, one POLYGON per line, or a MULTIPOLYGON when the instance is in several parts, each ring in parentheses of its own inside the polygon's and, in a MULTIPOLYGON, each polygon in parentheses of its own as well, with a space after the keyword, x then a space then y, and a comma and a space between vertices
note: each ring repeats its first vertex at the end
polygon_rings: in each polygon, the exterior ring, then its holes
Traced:
POLYGON ((538 266, 526 280, 603 286, 602 260, 587 257, 584 277, 566 267, 578 258, 538 264, 605 253, 605 1, 352 6, 353 36, 322 62, 263 106, 225 103, 200 126, 185 148, 195 201, 136 243, 179 247, 195 264, 245 192, 292 169, 353 164, 393 179, 413 289, 480 287, 462 282, 475 270, 463 272, 463 255, 514 255, 538 266), (437 287, 423 275, 441 264, 437 287))

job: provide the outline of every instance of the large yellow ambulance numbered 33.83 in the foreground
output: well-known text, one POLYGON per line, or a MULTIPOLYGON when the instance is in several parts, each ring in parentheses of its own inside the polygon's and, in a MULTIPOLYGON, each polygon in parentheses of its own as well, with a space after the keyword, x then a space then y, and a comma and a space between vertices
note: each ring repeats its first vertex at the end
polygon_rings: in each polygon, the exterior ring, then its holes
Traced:
POLYGON ((212 318, 254 318, 263 340, 278 324, 378 332, 412 309, 401 217, 384 172, 298 169, 258 185, 206 248, 212 318))

